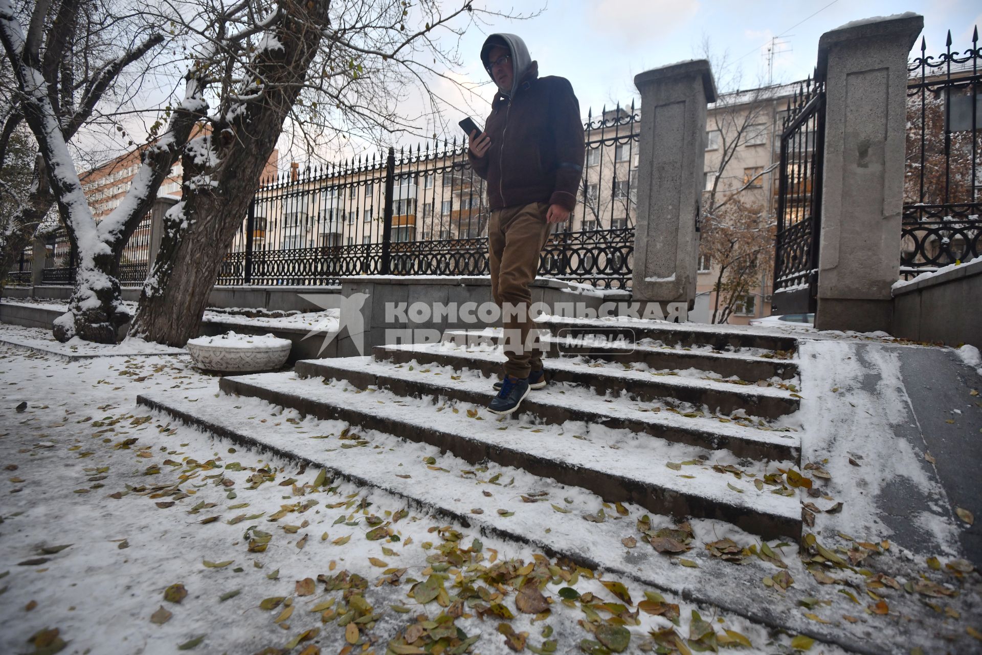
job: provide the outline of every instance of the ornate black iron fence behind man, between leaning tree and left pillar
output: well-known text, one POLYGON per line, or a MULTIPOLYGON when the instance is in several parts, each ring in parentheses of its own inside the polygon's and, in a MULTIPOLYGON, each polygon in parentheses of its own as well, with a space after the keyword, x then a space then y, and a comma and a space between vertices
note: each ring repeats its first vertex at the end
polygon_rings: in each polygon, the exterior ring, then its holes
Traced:
MULTIPOLYGON (((588 114, 581 198, 539 274, 627 286, 633 254, 637 113, 588 114)), ((465 142, 300 171, 264 181, 219 285, 327 285, 353 275, 486 275, 484 181, 465 142)))

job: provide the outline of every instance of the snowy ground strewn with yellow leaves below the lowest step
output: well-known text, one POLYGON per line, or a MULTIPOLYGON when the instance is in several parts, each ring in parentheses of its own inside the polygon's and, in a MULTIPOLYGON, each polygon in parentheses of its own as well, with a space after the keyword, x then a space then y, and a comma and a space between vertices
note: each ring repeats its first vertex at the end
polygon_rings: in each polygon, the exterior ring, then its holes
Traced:
MULTIPOLYGON (((0 334, 8 329, 0 327, 0 334)), ((632 604, 645 598, 645 589, 628 584, 622 591, 611 584, 616 579, 605 578, 608 590, 591 572, 557 568, 515 543, 404 507, 387 493, 318 480, 317 470, 237 452, 135 402, 147 390, 191 392, 213 385, 214 378, 197 373, 186 356, 66 363, 0 346, 0 614, 8 618, 0 652, 27 652, 33 638, 34 646, 62 639, 65 653, 253 653, 293 644, 289 652, 310 655, 320 652, 311 644, 339 652, 353 641, 355 650, 342 652, 362 652, 363 644, 365 652, 381 653, 406 629, 423 635, 417 643, 429 642, 443 622, 479 635, 475 652, 511 652, 506 638, 527 638, 540 649, 557 640, 556 652, 573 652, 581 639, 599 638, 577 621, 585 616, 591 628, 608 626, 594 618, 623 611, 601 603, 622 602, 622 593, 632 604), (372 525, 384 528, 383 538, 366 538, 372 525), (497 584, 490 578, 469 584, 480 592, 481 607, 494 608, 487 618, 478 617, 474 599, 441 600, 448 597, 436 587, 459 593, 452 582, 483 574, 483 568, 496 572, 497 584), (528 578, 540 580, 549 604, 541 606, 530 589, 519 603, 531 611, 547 607, 550 614, 518 609, 514 586, 528 578), (413 580, 430 580, 426 585, 436 585, 436 598, 424 605, 408 597, 413 580), (582 597, 565 605, 558 593, 566 586, 596 598, 586 610, 579 607, 582 597), (264 600, 273 609, 262 609, 264 600), (502 622, 496 612, 515 619, 502 622), (417 622, 440 615, 445 618, 439 623, 417 622), (507 636, 499 624, 517 634, 507 636)), ((269 415, 258 420, 298 431, 337 423, 265 409, 269 415)), ((426 586, 415 589, 413 595, 425 596, 426 586)), ((651 598, 649 609, 661 607, 657 596, 651 598)), ((684 637, 708 628, 738 639, 738 632, 756 652, 791 652, 794 635, 771 634, 680 598, 665 600, 669 615, 671 604, 679 604, 684 637), (694 621, 693 610, 713 623, 694 621)), ((631 649, 650 645, 651 629, 675 628, 647 612, 636 621, 632 625, 633 615, 627 616, 631 649)), ((604 628, 603 639, 623 636, 604 628)))

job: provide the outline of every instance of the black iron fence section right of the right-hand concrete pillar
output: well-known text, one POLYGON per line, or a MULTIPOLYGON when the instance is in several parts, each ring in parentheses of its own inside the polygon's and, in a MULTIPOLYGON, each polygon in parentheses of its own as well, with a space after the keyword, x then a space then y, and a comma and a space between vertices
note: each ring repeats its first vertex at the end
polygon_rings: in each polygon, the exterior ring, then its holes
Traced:
POLYGON ((982 50, 920 56, 908 67, 900 277, 982 254, 982 50))

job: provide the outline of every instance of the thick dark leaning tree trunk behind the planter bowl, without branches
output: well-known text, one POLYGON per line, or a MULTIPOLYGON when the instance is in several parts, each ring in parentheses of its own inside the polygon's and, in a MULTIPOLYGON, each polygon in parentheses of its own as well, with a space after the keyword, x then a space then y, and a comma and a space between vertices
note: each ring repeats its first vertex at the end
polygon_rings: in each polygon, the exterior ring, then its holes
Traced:
POLYGON ((224 106, 217 112, 221 119, 212 122, 211 135, 187 146, 183 199, 164 218, 160 250, 140 293, 132 336, 176 347, 197 336, 222 259, 242 226, 259 175, 317 53, 327 5, 308 3, 310 14, 285 5, 288 13, 274 28, 282 47, 258 52, 253 62, 262 92, 255 86, 244 89, 242 95, 252 96, 224 106))

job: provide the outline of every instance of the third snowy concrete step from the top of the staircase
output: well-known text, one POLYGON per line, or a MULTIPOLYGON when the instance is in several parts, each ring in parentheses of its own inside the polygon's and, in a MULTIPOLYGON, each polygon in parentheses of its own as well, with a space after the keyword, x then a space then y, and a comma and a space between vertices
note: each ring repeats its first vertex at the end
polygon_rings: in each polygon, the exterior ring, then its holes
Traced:
MULTIPOLYGON (((420 364, 453 366, 458 370, 471 369, 498 379, 502 375, 505 355, 496 349, 455 347, 451 344, 407 344, 401 346, 376 346, 376 359, 389 359, 396 363, 415 360, 420 364)), ((298 362, 298 370, 312 365, 308 359, 298 362)), ((790 391, 778 387, 740 385, 719 380, 704 380, 680 375, 658 374, 652 371, 614 369, 607 366, 590 366, 568 358, 552 358, 545 363, 548 379, 569 382, 592 389, 605 396, 627 394, 640 402, 671 399, 706 406, 712 412, 731 414, 743 410, 748 415, 775 419, 798 409, 798 399, 790 391)))

